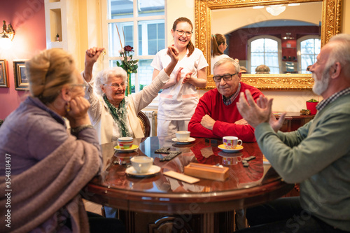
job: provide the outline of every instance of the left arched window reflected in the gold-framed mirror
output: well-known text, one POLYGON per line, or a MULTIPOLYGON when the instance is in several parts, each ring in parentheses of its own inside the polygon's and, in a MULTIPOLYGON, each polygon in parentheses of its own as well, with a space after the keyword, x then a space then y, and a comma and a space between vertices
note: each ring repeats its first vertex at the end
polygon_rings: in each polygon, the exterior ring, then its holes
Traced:
POLYGON ((270 73, 281 73, 281 39, 274 36, 254 36, 248 40, 248 69, 255 73, 261 64, 269 66, 270 73))

